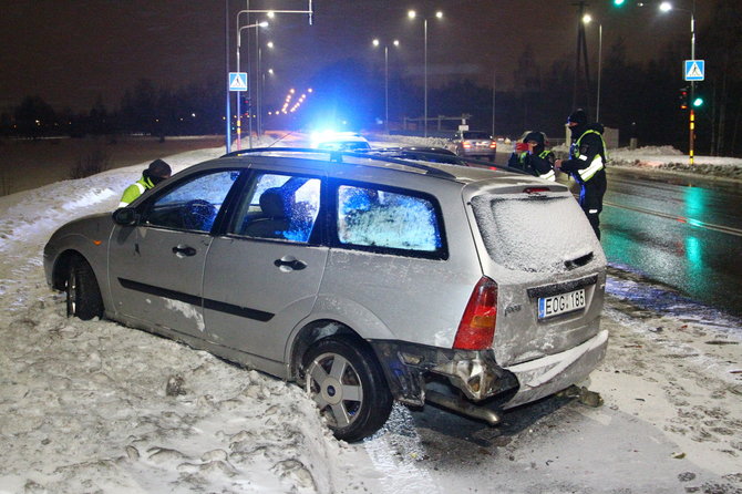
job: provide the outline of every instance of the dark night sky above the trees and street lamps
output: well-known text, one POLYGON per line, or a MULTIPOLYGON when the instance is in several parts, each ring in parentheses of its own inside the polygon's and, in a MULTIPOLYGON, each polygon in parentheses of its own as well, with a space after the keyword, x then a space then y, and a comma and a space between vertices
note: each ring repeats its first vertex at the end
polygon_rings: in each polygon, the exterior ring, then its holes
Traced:
MULTIPOLYGON (((225 3, 227 0, 0 0, 0 110, 39 95, 55 109, 87 110, 101 95, 117 107, 124 91, 137 80, 157 88, 225 81, 225 3)), ((627 0, 632 2, 632 0, 627 0)), ((676 0, 690 6, 691 0, 676 0)), ((235 63, 236 12, 246 0, 228 0, 230 70, 235 63)), ((302 84, 322 65, 344 58, 383 66, 375 37, 390 43, 390 71, 419 78, 422 85, 422 20, 406 17, 410 8, 427 12, 429 85, 451 79, 473 79, 498 89, 513 83, 512 72, 525 48, 547 70, 552 61, 575 59, 577 8, 571 0, 313 0, 315 23, 284 14, 261 31, 264 70, 276 71, 282 93, 302 84), (444 19, 433 17, 444 11, 444 19), (391 47, 399 39, 401 49, 391 47)), ((697 22, 709 17, 713 0, 695 0, 697 22)), ((305 10, 307 0, 251 0, 250 9, 305 10)), ((610 0, 588 1, 587 11, 602 23, 604 56, 622 37, 632 60, 652 56, 671 42, 688 45, 690 16, 657 13, 629 4, 621 11, 610 0)), ((243 19, 245 17, 243 16, 243 19)), ((245 23, 245 22, 243 22, 245 23)), ((697 34, 700 27, 697 25, 697 34)), ((255 30, 243 31, 255 37, 255 30)), ((597 24, 587 29, 588 52, 597 59, 597 24)), ((697 40, 697 58, 703 58, 697 40)), ((246 51, 243 52, 245 69, 246 51)), ((678 80, 681 61, 678 61, 678 80)))

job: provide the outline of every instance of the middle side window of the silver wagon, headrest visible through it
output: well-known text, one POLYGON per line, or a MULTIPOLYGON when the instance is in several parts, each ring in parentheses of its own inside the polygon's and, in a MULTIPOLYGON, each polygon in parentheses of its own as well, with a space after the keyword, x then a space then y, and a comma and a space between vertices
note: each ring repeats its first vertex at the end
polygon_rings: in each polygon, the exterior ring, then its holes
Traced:
POLYGON ((229 231, 254 238, 307 243, 320 206, 319 178, 272 173, 256 175, 229 231))

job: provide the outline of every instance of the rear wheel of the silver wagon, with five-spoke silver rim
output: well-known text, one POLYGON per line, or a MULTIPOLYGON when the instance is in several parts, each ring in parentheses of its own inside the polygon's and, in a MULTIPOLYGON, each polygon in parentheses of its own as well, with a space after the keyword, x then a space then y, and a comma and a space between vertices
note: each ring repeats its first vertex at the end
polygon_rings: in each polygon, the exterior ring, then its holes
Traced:
POLYGON ((306 389, 334 436, 359 441, 387 422, 392 395, 379 362, 350 338, 320 340, 305 354, 306 389))

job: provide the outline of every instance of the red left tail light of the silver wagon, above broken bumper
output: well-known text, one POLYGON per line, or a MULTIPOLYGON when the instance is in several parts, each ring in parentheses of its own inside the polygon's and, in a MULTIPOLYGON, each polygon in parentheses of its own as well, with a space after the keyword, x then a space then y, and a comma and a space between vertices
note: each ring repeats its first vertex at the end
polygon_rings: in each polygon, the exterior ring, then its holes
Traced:
POLYGON ((453 348, 484 350, 492 346, 497 322, 497 284, 483 276, 472 290, 453 348))

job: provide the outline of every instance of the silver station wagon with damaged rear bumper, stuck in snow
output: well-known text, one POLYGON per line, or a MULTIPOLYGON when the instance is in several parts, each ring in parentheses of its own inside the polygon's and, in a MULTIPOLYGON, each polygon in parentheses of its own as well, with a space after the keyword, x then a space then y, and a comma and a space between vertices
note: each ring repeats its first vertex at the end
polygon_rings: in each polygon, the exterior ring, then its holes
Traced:
POLYGON ((608 340, 606 258, 567 187, 420 158, 231 153, 61 227, 44 269, 69 316, 296 381, 347 441, 394 400, 496 424, 608 340))

